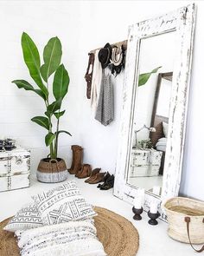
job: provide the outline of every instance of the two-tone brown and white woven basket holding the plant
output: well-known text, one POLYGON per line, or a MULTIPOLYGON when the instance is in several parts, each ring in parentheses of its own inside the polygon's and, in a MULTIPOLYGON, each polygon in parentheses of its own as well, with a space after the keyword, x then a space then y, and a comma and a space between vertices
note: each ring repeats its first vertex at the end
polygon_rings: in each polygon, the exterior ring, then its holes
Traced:
POLYGON ((55 183, 67 180, 67 166, 63 159, 41 159, 37 167, 37 180, 46 183, 55 183))

